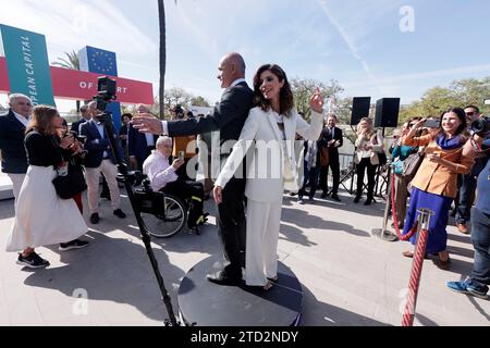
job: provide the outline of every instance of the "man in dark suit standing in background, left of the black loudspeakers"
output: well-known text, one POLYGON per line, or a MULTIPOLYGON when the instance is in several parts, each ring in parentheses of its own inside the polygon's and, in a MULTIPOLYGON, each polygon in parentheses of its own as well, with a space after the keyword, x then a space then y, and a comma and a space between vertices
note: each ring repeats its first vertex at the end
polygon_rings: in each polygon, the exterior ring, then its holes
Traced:
POLYGON ((342 129, 336 127, 338 119, 334 114, 330 114, 327 119, 327 126, 321 132, 320 146, 329 151, 328 165, 321 166, 320 170, 320 188, 323 190, 321 198, 326 198, 327 181, 329 175, 329 166, 332 169, 333 187, 332 198, 341 201, 339 198, 339 182, 340 182, 340 163, 339 163, 339 148, 344 144, 342 129))

